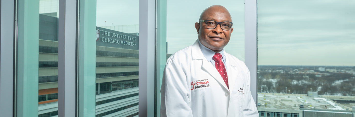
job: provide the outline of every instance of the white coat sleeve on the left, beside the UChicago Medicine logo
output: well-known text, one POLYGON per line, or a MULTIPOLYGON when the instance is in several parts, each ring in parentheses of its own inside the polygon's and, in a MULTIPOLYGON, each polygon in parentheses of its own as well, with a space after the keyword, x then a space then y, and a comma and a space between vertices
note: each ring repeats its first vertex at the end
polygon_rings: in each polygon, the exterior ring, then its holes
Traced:
POLYGON ((189 106, 190 85, 187 85, 186 73, 179 63, 172 59, 166 62, 160 93, 161 117, 192 117, 189 106))

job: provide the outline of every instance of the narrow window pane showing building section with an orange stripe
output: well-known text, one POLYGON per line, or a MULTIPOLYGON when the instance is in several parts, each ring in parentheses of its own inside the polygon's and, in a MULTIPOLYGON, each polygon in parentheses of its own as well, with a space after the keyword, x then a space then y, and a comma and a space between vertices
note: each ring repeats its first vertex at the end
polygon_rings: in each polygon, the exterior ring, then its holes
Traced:
POLYGON ((59 0, 39 0, 38 117, 58 115, 59 0))

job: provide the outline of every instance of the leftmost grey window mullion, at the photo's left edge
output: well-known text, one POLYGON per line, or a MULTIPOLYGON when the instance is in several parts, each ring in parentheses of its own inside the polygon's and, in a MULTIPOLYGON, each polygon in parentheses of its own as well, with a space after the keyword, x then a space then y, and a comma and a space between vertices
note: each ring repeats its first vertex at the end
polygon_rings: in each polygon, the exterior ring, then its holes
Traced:
POLYGON ((0 117, 13 115, 13 68, 14 68, 14 6, 13 0, 0 0, 0 117))

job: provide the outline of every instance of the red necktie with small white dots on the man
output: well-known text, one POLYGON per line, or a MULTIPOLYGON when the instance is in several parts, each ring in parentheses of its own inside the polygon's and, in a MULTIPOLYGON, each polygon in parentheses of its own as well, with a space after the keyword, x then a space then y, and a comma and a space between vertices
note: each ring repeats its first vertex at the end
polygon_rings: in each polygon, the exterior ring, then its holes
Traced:
POLYGON ((220 53, 216 53, 213 55, 212 59, 215 61, 214 65, 216 66, 218 73, 222 76, 224 83, 227 85, 227 88, 229 89, 227 71, 222 62, 222 55, 220 53))

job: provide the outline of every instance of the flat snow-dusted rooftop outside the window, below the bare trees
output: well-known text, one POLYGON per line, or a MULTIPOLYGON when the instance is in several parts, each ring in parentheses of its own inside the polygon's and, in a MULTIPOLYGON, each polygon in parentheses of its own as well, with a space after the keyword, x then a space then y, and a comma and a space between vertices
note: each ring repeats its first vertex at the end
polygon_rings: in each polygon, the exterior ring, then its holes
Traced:
POLYGON ((332 96, 318 95, 309 97, 307 94, 279 94, 279 93, 258 93, 257 101, 261 104, 258 108, 300 110, 299 105, 304 108, 322 110, 352 110, 355 103, 337 103, 335 100, 355 101, 355 96, 332 96), (333 101, 334 100, 334 101, 333 101))

